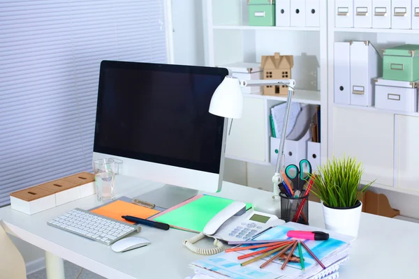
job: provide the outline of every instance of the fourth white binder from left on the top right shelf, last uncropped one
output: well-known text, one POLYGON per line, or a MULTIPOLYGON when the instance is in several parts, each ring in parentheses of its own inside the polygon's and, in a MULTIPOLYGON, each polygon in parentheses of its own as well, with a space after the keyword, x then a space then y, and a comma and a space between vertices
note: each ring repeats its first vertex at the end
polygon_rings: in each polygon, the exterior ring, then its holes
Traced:
POLYGON ((391 28, 411 29, 411 0, 392 0, 391 28))

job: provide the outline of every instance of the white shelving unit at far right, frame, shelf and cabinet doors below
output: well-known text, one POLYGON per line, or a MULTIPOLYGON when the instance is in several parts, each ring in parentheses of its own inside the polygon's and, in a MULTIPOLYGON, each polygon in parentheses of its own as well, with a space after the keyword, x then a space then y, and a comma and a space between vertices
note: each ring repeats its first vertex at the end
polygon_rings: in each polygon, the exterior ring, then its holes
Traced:
POLYGON ((369 40, 381 53, 396 45, 418 45, 419 30, 337 28, 335 14, 335 1, 328 1, 328 155, 357 157, 365 168, 362 181, 376 179, 376 188, 419 195, 419 173, 413 171, 419 164, 419 113, 334 103, 335 42, 369 40))

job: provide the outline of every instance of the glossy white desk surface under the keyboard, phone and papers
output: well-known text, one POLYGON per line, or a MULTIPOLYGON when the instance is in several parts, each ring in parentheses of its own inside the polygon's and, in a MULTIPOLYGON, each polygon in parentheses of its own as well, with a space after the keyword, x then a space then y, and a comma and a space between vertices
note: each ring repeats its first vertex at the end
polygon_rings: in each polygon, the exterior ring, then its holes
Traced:
MULTIPOLYGON (((162 186, 160 183, 117 176, 117 193, 127 197, 162 186)), ((225 182, 221 193, 212 195, 256 202, 272 194, 225 182)), ((194 234, 176 229, 163 231, 143 226, 138 235, 152 241, 152 245, 116 253, 110 246, 47 225, 48 220, 75 207, 91 209, 98 205, 96 197, 90 196, 33 216, 13 211, 7 206, 0 209, 0 220, 3 220, 1 225, 6 232, 106 278, 186 278, 193 273, 188 264, 204 257, 182 246, 182 240, 194 234)), ((310 225, 324 227, 320 204, 309 203, 309 222, 310 225)), ((419 244, 411 240, 419 235, 419 224, 366 213, 362 213, 360 222, 358 239, 352 244, 350 258, 339 269, 339 278, 399 278, 401 271, 404 278, 416 278, 419 244)), ((210 239, 205 241, 198 244, 212 245, 210 239)))

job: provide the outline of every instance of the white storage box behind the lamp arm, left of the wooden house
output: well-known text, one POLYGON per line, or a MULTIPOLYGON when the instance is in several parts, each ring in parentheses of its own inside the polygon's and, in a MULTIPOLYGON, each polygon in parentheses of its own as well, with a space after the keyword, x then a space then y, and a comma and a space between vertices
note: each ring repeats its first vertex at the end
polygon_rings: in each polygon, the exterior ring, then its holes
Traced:
MULTIPOLYGON (((237 77, 240 81, 242 80, 262 80, 263 71, 260 68, 260 63, 244 63, 237 62, 219 66, 221 68, 228 68, 231 71, 231 75, 237 77)), ((245 94, 260 93, 262 89, 260 86, 244 86, 242 92, 245 94)))

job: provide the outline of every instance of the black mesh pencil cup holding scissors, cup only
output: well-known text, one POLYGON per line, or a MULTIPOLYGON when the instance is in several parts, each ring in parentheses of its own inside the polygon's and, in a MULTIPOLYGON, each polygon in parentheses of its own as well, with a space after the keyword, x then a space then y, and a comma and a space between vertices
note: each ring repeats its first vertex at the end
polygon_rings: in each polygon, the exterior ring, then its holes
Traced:
POLYGON ((284 193, 279 193, 279 196, 282 220, 309 225, 309 195, 288 197, 284 193))

